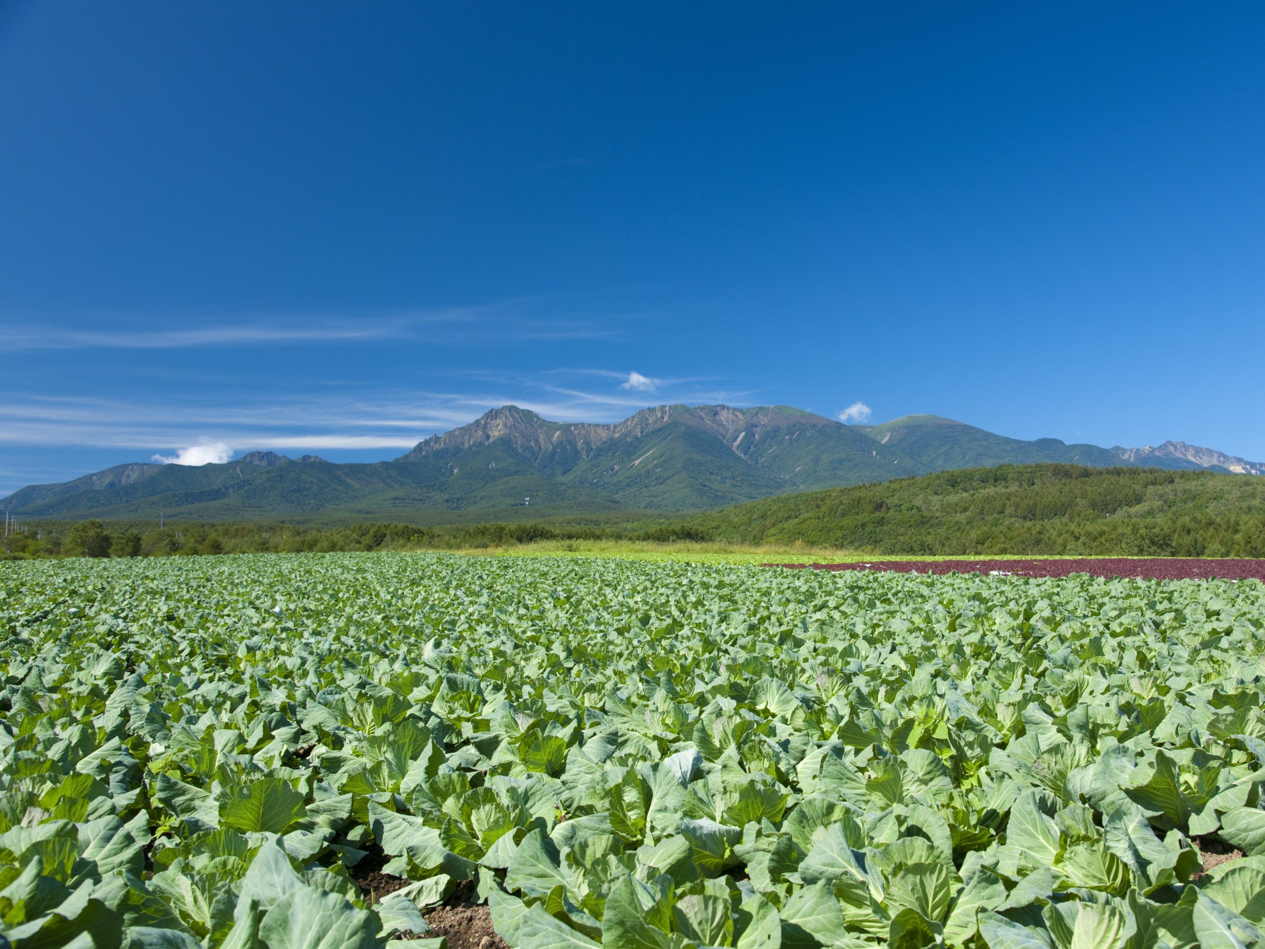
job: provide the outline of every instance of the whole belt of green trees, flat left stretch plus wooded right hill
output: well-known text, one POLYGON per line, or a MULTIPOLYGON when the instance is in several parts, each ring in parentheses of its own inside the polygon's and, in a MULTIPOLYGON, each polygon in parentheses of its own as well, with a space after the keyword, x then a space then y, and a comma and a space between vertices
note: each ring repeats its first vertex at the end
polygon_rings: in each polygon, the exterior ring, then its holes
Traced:
POLYGON ((688 518, 562 523, 34 523, 5 557, 471 549, 543 540, 732 542, 874 554, 1265 557, 1265 477, 1027 464, 784 495, 688 518))

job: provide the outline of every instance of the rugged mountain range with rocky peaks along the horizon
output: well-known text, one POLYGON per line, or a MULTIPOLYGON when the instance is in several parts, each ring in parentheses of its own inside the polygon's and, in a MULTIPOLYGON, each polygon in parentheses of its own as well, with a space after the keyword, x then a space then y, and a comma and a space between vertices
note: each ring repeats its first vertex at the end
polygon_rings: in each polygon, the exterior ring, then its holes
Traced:
POLYGON ((612 425, 506 405, 372 464, 250 452, 224 464, 119 464, 0 500, 23 518, 514 519, 722 507, 953 468, 1063 462, 1265 475, 1183 442, 1099 448, 1006 438, 936 415, 845 425, 788 406, 660 405, 612 425))

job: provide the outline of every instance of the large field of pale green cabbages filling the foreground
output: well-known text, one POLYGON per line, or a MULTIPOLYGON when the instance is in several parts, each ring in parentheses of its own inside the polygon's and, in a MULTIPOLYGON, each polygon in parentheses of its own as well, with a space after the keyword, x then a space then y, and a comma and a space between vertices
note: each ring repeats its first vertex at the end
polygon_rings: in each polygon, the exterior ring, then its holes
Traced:
POLYGON ((464 902, 522 949, 1251 945, 1262 625, 1249 580, 4 563, 0 924, 369 949, 464 902))

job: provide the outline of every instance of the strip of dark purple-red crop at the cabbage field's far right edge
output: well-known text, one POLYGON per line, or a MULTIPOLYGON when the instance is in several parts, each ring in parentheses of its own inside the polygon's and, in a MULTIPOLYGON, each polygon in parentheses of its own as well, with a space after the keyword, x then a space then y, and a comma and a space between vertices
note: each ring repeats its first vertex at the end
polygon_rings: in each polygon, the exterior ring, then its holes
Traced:
POLYGON ((1265 561, 1085 557, 1068 561, 870 561, 868 563, 764 563, 763 567, 818 571, 899 571, 902 573, 983 573, 985 576, 1095 577, 1137 580, 1265 580, 1265 561))

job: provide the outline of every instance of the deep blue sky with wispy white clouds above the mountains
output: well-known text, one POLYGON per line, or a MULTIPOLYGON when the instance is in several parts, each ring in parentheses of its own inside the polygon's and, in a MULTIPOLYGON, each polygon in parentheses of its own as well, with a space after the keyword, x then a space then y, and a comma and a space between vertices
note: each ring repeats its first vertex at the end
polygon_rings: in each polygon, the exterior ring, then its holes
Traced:
POLYGON ((1265 459, 1262 48, 1251 4, 0 4, 0 493, 511 401, 1265 459))

